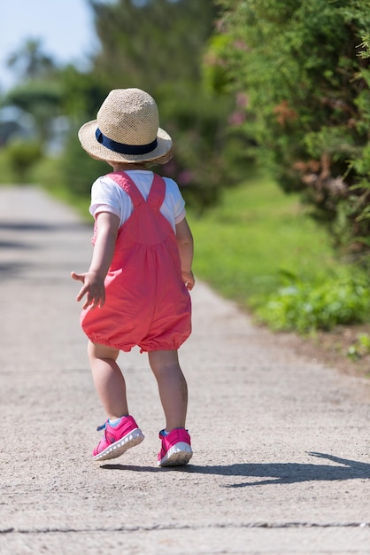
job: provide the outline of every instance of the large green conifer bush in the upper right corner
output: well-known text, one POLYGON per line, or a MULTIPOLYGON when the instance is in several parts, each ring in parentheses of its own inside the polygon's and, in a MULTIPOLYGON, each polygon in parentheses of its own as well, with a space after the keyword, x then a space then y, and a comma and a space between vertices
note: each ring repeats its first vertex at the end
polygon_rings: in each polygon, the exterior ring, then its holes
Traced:
POLYGON ((226 90, 248 98, 250 152, 338 247, 370 251, 367 0, 220 0, 226 90), (360 55, 362 53, 362 56, 360 55))

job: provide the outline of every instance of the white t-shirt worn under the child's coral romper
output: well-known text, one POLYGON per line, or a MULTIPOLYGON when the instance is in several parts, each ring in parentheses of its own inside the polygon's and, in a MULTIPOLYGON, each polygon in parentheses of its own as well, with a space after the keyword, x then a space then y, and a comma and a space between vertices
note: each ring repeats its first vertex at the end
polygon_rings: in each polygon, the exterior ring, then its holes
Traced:
MULTIPOLYGON (((130 169, 127 175, 134 181, 136 187, 146 200, 153 181, 150 170, 130 169)), ((160 212, 171 223, 173 231, 175 224, 180 223, 186 215, 185 201, 182 199, 178 185, 169 177, 164 177, 166 195, 160 212)), ((123 191, 109 176, 98 177, 91 188, 90 214, 96 217, 99 212, 112 212, 118 215, 119 227, 123 225, 133 212, 133 204, 127 192, 123 191)))

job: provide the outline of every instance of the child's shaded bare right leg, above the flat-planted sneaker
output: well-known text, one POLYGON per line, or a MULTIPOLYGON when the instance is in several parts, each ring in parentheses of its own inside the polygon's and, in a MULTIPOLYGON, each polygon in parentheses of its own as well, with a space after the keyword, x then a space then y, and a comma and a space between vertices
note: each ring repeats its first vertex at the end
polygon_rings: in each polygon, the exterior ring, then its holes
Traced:
POLYGON ((188 386, 181 371, 177 351, 150 351, 148 356, 165 411, 166 431, 184 428, 188 409, 188 386))

